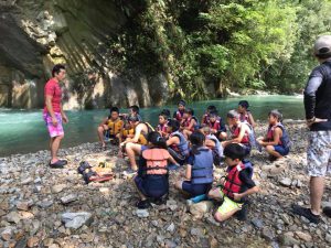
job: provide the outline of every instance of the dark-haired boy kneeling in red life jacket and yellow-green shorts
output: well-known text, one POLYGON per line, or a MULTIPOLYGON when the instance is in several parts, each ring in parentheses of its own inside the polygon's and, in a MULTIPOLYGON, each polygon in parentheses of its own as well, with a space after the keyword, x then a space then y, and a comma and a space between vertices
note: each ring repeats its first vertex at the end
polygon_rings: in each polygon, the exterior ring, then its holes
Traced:
POLYGON ((227 175, 222 179, 221 185, 209 192, 209 197, 222 201, 214 214, 217 222, 224 222, 242 211, 242 219, 246 218, 247 195, 258 192, 252 180, 253 168, 249 161, 243 161, 245 149, 239 143, 231 143, 224 149, 227 175))

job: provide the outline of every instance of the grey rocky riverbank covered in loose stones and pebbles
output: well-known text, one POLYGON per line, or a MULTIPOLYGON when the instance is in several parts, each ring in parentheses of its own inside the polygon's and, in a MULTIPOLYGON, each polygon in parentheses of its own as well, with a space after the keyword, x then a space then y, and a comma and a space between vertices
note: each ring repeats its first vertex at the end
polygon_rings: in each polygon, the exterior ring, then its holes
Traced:
MULTIPOLYGON (((270 163, 265 153, 253 151, 260 193, 250 197, 246 222, 232 218, 221 225, 212 218, 216 206, 188 207, 172 185, 166 205, 137 211, 132 182, 120 173, 127 161, 116 158, 115 147, 100 152, 99 144, 86 143, 61 150, 68 160, 64 170, 46 166, 46 151, 1 158, 0 247, 330 247, 331 219, 322 216, 313 225, 290 213, 292 203, 309 203, 307 129, 302 122, 286 126, 292 152, 270 163), (86 185, 76 171, 82 160, 107 160, 116 177, 86 185)), ((265 125, 256 129, 258 136, 265 131, 265 125)), ((216 177, 223 172, 216 169, 216 177)), ((178 176, 171 172, 171 183, 178 176)), ((329 182, 324 201, 331 202, 329 182)))

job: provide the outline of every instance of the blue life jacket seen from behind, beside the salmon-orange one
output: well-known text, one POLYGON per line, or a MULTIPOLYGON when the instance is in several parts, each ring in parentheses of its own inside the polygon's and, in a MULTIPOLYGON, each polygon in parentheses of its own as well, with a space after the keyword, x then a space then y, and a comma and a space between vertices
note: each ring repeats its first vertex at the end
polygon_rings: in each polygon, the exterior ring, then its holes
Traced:
POLYGON ((209 148, 197 149, 199 154, 193 154, 192 184, 213 183, 213 153, 209 148))

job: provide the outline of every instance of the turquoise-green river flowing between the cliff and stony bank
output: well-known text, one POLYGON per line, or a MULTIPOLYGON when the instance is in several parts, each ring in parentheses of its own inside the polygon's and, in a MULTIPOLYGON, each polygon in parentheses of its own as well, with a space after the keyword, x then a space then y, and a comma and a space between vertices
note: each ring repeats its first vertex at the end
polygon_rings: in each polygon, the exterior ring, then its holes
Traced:
MULTIPOLYGON (((195 101, 189 104, 201 119, 209 105, 215 105, 220 115, 225 118, 226 111, 237 107, 239 100, 249 101, 249 109, 255 119, 267 120, 268 111, 279 109, 284 118, 303 119, 303 104, 301 96, 244 96, 227 99, 195 101)), ((171 112, 177 106, 151 107, 141 109, 143 120, 153 126, 158 122, 158 114, 161 109, 169 108, 171 112)), ((127 109, 121 109, 126 112, 127 109)), ((96 129, 108 110, 71 110, 66 111, 70 122, 64 126, 65 138, 62 148, 73 147, 85 142, 97 141, 96 129)), ((0 108, 0 157, 29 153, 47 149, 49 138, 45 123, 42 119, 42 110, 17 110, 0 108)))

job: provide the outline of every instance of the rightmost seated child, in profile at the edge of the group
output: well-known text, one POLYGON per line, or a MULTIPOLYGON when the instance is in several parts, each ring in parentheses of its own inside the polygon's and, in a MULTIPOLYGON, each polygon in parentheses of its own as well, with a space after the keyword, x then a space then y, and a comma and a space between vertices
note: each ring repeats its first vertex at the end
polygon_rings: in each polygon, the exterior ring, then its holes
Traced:
POLYGON ((270 155, 270 160, 282 159, 289 153, 290 140, 281 123, 282 115, 274 109, 268 115, 268 132, 266 137, 257 139, 259 145, 264 147, 270 155))

